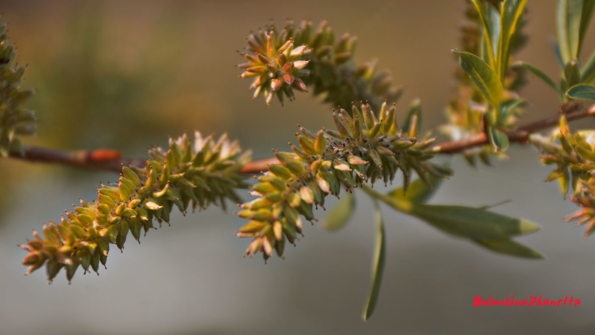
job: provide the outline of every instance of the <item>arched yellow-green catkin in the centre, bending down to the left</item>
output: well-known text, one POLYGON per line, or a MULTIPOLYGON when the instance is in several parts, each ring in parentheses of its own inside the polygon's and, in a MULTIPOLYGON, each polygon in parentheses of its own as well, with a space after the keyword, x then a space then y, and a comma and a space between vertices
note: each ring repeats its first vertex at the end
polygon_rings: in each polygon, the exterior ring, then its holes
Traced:
POLYGON ((339 109, 333 111, 337 131, 300 128, 299 146, 290 143, 292 152, 275 151, 280 164, 257 177, 250 192, 257 198, 240 205, 237 213, 249 220, 236 231, 238 237, 252 237, 245 255, 262 252, 265 260, 274 252, 283 256, 286 242, 293 244, 302 233, 302 217, 314 220, 313 208, 324 206, 329 194, 339 197, 341 189, 351 192, 378 179, 386 184, 399 170, 405 186, 413 171, 424 180, 428 174, 448 176, 450 171, 429 161, 439 151, 431 147, 436 138, 409 136, 415 123, 403 131, 394 113, 394 104, 387 108, 386 102, 379 118, 368 104, 352 105, 351 113, 339 109))

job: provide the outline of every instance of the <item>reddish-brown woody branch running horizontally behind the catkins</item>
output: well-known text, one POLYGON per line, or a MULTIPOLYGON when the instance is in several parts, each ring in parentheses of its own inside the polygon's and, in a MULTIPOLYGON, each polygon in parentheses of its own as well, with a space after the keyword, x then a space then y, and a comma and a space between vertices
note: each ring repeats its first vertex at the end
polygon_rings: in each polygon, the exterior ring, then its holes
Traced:
MULTIPOLYGON (((556 126, 559 123, 560 114, 565 114, 568 121, 578 120, 580 118, 595 115, 595 105, 583 108, 580 102, 569 102, 560 108, 558 115, 554 115, 533 123, 524 124, 511 132, 506 132, 510 142, 527 144, 529 135, 549 127, 556 126)), ((483 146, 489 143, 485 133, 478 134, 466 140, 447 141, 440 143, 439 154, 456 154, 467 149, 483 146)), ((122 159, 118 151, 113 150, 95 150, 95 151, 61 151, 56 149, 27 147, 24 149, 24 156, 11 152, 11 158, 23 159, 29 162, 57 163, 79 168, 90 168, 96 170, 112 171, 120 173, 122 164, 144 167, 145 162, 142 159, 122 159)), ((258 159, 249 162, 242 167, 242 174, 258 174, 268 170, 268 165, 278 164, 277 158, 258 159)))

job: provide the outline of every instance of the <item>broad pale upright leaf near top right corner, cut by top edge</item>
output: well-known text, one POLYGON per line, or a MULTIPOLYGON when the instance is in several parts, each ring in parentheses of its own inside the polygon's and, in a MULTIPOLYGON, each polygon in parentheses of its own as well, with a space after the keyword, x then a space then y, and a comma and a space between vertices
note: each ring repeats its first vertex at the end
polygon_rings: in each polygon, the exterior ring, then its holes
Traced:
MULTIPOLYGON (((578 57, 583 37, 581 36, 582 13, 583 0, 558 0, 556 27, 558 28, 560 54, 562 54, 564 64, 568 64, 572 58, 578 57)), ((585 24, 588 23, 585 22, 585 24)), ((584 28, 586 29, 586 26, 584 28)))

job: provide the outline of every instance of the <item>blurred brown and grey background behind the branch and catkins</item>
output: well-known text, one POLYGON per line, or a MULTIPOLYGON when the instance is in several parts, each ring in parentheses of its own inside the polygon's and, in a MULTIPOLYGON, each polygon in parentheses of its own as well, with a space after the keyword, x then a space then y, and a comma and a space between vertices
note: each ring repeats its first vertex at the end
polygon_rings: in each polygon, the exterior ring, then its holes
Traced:
MULTIPOLYGON (((528 48, 519 58, 553 77, 559 70, 550 40, 555 0, 529 1, 528 48)), ((64 149, 114 148, 144 158, 167 136, 200 130, 228 132, 255 158, 288 149, 296 124, 331 126, 330 109, 308 93, 281 107, 250 99, 239 80, 250 30, 271 18, 327 18, 337 34, 357 35, 356 60, 380 58, 406 87, 398 107, 421 98, 424 129, 443 123, 458 66, 463 0, 346 1, 0 1, 2 21, 29 64, 25 87, 37 94, 39 115, 29 145, 64 149)), ((594 25, 595 26, 595 25, 594 25)), ((595 31, 584 51, 595 47, 595 31)), ((533 77, 522 92, 531 102, 524 120, 558 110, 555 94, 533 77)), ((572 126, 594 127, 591 120, 572 126)), ((515 146, 493 167, 452 159, 455 177, 431 203, 484 205, 525 217, 543 229, 521 242, 546 255, 526 261, 496 255, 383 207, 387 266, 375 314, 361 312, 368 294, 374 243, 371 203, 356 194, 357 212, 337 233, 320 225, 286 251, 286 259, 243 259, 243 224, 220 208, 151 231, 141 245, 112 249, 108 270, 71 285, 60 275, 48 286, 43 270, 23 277, 25 252, 16 247, 58 220, 81 196, 96 199, 99 181, 114 174, 0 159, 0 333, 2 334, 592 334, 595 319, 595 239, 562 223, 574 211, 535 149, 515 146), (474 296, 581 299, 580 306, 474 308, 474 296)), ((246 195, 248 198, 248 195, 246 195)), ((329 199, 329 205, 334 203, 329 199)), ((328 207, 327 207, 328 208, 328 207)), ((317 217, 325 217, 318 211, 317 217)))

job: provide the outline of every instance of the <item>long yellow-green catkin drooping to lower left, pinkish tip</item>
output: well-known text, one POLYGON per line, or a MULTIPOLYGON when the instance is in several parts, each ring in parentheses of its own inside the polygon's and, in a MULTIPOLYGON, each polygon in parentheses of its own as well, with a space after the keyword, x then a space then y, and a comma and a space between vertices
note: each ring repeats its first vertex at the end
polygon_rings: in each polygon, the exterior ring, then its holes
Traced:
POLYGON ((117 184, 102 184, 96 201, 81 200, 60 223, 43 224, 43 238, 33 230, 34 239, 20 245, 29 252, 26 274, 44 264, 49 281, 62 268, 68 281, 79 266, 98 271, 110 244, 123 249, 129 233, 140 243, 141 231, 154 228, 154 219, 159 226, 169 223, 174 207, 186 213, 189 206, 225 206, 226 199, 240 201, 235 189, 247 187, 239 171, 250 152, 225 134, 214 139, 197 132, 194 140, 184 135, 170 139, 167 151, 154 147, 149 154, 145 168, 123 167, 117 184))

